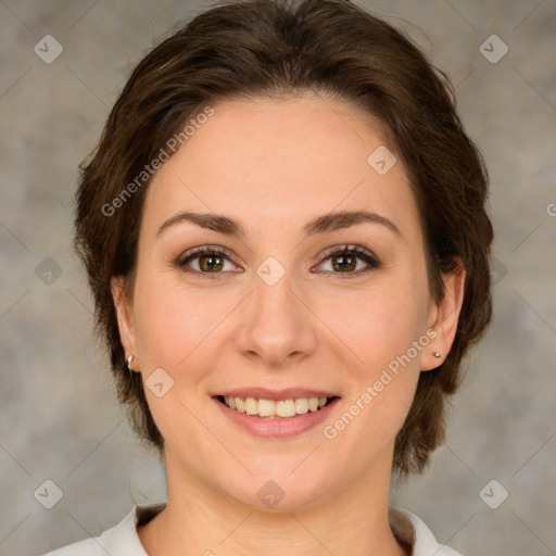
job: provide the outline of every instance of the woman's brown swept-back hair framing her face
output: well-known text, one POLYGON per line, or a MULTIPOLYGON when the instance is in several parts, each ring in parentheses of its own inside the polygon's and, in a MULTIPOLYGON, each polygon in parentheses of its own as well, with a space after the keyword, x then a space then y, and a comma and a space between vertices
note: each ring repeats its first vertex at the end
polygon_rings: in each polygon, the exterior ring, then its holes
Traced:
POLYGON ((134 281, 149 184, 143 176, 138 185, 137 176, 208 103, 304 91, 351 102, 384 126, 417 200, 431 295, 442 299, 442 273, 453 271, 457 260, 466 268, 452 350, 439 368, 420 374, 395 442, 394 469, 418 472, 444 439, 446 394, 458 387, 462 358, 491 318, 488 173, 456 114, 448 77, 400 31, 348 0, 220 3, 135 68, 92 161, 81 166, 77 192, 75 248, 94 295, 97 330, 108 341, 135 430, 162 450, 140 376, 126 369, 111 294, 113 276, 134 281), (123 197, 126 188, 132 194, 123 197))

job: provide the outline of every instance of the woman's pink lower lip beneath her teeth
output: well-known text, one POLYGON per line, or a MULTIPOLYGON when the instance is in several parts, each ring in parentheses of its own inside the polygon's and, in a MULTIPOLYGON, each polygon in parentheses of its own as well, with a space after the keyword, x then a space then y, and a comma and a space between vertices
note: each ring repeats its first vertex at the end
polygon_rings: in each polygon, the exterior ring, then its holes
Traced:
POLYGON ((230 409, 216 397, 213 399, 224 415, 231 419, 236 425, 244 428, 255 437, 264 438, 287 438, 302 434, 307 430, 323 422, 332 410, 333 406, 340 401, 339 397, 332 400, 328 405, 317 412, 308 412, 295 417, 277 417, 275 419, 248 415, 230 409))

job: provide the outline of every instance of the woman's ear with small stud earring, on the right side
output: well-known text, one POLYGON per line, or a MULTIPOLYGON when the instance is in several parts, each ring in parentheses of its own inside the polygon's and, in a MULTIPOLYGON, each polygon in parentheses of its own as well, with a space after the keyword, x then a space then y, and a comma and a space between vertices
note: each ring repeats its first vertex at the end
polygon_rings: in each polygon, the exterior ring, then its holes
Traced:
POLYGON ((465 277, 464 264, 458 260, 457 266, 442 278, 444 296, 440 302, 431 305, 429 313, 429 330, 433 329, 437 336, 424 352, 421 370, 432 370, 442 365, 452 349, 464 302, 465 277), (441 356, 434 357, 435 352, 439 352, 441 356))

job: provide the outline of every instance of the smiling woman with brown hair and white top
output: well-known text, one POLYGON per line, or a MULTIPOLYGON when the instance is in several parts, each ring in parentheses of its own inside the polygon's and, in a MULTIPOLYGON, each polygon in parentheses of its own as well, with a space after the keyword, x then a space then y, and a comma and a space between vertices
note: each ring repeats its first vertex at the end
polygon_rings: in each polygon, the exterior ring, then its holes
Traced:
POLYGON ((389 494, 491 318, 486 193, 447 78, 348 1, 227 2, 156 47, 76 248, 167 502, 50 554, 457 554, 389 494))

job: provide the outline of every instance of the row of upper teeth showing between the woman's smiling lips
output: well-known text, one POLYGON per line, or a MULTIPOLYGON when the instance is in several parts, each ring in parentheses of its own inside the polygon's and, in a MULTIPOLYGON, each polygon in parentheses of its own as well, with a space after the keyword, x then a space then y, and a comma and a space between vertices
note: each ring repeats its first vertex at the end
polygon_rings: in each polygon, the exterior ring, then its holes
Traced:
POLYGON ((218 395, 216 399, 238 413, 266 419, 287 419, 296 417, 298 415, 318 412, 334 400, 338 400, 338 396, 292 397, 279 401, 256 397, 232 397, 226 395, 218 395))

